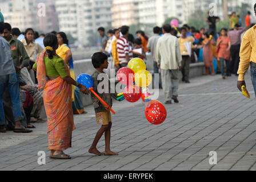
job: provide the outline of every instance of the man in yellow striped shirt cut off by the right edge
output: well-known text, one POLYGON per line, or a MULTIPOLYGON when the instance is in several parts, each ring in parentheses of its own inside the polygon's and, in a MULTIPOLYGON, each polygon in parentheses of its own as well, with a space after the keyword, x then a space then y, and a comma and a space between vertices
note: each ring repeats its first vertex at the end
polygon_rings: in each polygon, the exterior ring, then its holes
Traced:
MULTIPOLYGON (((254 12, 256 15, 256 3, 254 5, 254 12)), ((251 69, 251 81, 253 82, 254 92, 256 96, 256 26, 251 27, 246 31, 243 36, 241 48, 240 48, 240 63, 237 74, 237 88, 242 91, 242 85, 245 85, 245 73, 247 72, 249 65, 251 69)))

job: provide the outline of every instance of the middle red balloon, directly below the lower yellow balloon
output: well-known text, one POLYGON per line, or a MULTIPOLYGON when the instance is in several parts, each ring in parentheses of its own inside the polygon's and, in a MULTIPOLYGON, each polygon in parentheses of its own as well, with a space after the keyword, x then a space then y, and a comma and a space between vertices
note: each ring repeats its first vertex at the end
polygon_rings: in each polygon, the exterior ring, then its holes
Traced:
POLYGON ((123 90, 123 96, 128 102, 137 102, 141 98, 141 89, 137 85, 128 85, 123 90))

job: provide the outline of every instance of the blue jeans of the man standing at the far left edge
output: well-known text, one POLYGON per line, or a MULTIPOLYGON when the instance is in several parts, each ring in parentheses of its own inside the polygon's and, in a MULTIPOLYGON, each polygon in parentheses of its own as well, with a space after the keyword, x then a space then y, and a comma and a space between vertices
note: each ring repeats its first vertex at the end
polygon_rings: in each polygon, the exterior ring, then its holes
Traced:
POLYGON ((11 95, 13 103, 13 113, 15 122, 21 121, 23 115, 21 113, 21 101, 19 100, 19 81, 16 73, 0 76, 0 125, 5 125, 5 112, 3 110, 3 92, 6 87, 11 95))

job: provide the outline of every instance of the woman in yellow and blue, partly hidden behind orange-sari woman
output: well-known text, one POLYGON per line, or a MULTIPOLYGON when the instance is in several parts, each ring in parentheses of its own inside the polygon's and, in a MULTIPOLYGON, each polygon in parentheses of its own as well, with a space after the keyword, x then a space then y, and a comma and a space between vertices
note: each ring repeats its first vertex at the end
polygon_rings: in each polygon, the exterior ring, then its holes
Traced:
MULTIPOLYGON (((57 39, 58 39, 59 47, 56 50, 56 53, 59 57, 61 57, 64 60, 64 63, 69 65, 70 76, 71 78, 75 79, 73 58, 72 58, 72 53, 69 47, 69 40, 67 39, 67 36, 64 32, 58 32, 57 39)), ((87 113, 83 109, 83 104, 81 101, 79 89, 75 88, 75 86, 72 86, 72 107, 73 107, 74 114, 87 113)))

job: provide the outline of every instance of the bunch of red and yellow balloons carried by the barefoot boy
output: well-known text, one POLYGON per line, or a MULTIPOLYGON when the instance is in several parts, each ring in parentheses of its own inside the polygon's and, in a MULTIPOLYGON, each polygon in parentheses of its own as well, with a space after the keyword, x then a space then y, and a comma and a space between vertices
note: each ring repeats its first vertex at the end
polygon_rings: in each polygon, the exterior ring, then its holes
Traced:
POLYGON ((150 98, 147 86, 152 82, 152 75, 149 71, 146 71, 146 64, 142 59, 138 57, 131 59, 127 67, 118 70, 117 79, 121 84, 127 85, 122 93, 117 94, 117 100, 137 102, 139 98, 142 98, 145 103, 147 121, 154 125, 159 125, 165 121, 165 106, 161 102, 150 98))

